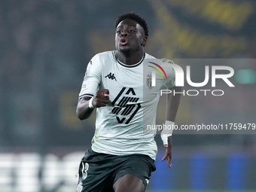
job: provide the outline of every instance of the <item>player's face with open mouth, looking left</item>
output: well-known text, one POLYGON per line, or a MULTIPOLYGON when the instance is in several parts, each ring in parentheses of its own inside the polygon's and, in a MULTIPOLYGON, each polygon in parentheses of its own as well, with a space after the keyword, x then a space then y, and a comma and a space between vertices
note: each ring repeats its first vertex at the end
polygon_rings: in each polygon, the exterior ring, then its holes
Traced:
POLYGON ((126 19, 121 21, 116 29, 115 47, 120 52, 143 50, 147 37, 145 32, 135 20, 126 19))

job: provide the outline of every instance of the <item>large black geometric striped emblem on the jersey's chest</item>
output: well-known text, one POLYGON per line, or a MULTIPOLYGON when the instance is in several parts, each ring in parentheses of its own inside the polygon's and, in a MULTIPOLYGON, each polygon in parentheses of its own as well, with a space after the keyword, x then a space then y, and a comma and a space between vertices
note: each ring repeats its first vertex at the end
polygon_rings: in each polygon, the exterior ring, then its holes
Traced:
POLYGON ((117 97, 112 102, 112 105, 117 102, 117 100, 122 96, 120 102, 117 103, 117 106, 112 109, 112 113, 116 114, 118 123, 130 123, 136 113, 141 108, 141 105, 138 102, 139 97, 136 97, 136 93, 133 88, 123 87, 122 90, 118 93, 117 97))

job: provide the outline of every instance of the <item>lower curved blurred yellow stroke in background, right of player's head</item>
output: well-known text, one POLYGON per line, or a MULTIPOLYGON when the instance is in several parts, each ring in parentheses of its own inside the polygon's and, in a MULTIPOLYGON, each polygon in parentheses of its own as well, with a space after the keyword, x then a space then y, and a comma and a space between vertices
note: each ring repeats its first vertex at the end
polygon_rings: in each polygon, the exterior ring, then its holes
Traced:
MULTIPOLYGON (((200 32, 194 26, 185 26, 175 20, 171 11, 168 10, 166 5, 159 1, 150 1, 152 8, 156 12, 156 15, 160 22, 163 23, 163 28, 159 29, 154 35, 154 43, 158 42, 157 47, 161 47, 160 51, 164 53, 166 58, 178 57, 182 53, 186 56, 204 56, 204 57, 230 57, 236 53, 243 53, 248 47, 248 42, 243 36, 232 37, 231 35, 212 35, 200 32)), ((169 2, 177 2, 175 0, 169 0, 169 2)), ((180 1, 180 4, 191 1, 180 1)), ((203 1, 192 1, 196 2, 203 1)), ((209 2, 209 1, 206 1, 209 2)), ((213 1, 217 2, 223 1, 213 1)), ((224 3, 224 2, 223 2, 224 3)), ((205 5, 205 4, 204 4, 205 5)), ((214 4, 207 4, 212 7, 214 4)), ((225 4, 220 4, 225 5, 225 4)), ((206 6, 206 10, 209 8, 206 6)), ((199 7, 198 5, 196 7, 199 7)), ((214 6, 213 6, 214 7, 214 6)), ((218 10, 218 9, 217 9, 218 10)), ((207 12, 207 11, 203 11, 207 12)), ((214 9, 212 10, 214 12, 214 9)), ((216 14, 216 13, 215 13, 216 14)), ((222 17, 227 17, 225 14, 222 17)), ((217 18, 217 17, 216 17, 217 18)), ((221 17, 219 17, 221 18, 221 17)), ((230 20, 230 17, 228 17, 230 20)), ((226 22, 227 22, 226 20, 226 22)), ((214 23, 212 23, 214 24, 214 23)), ((231 23, 232 24, 232 23, 231 23)))

